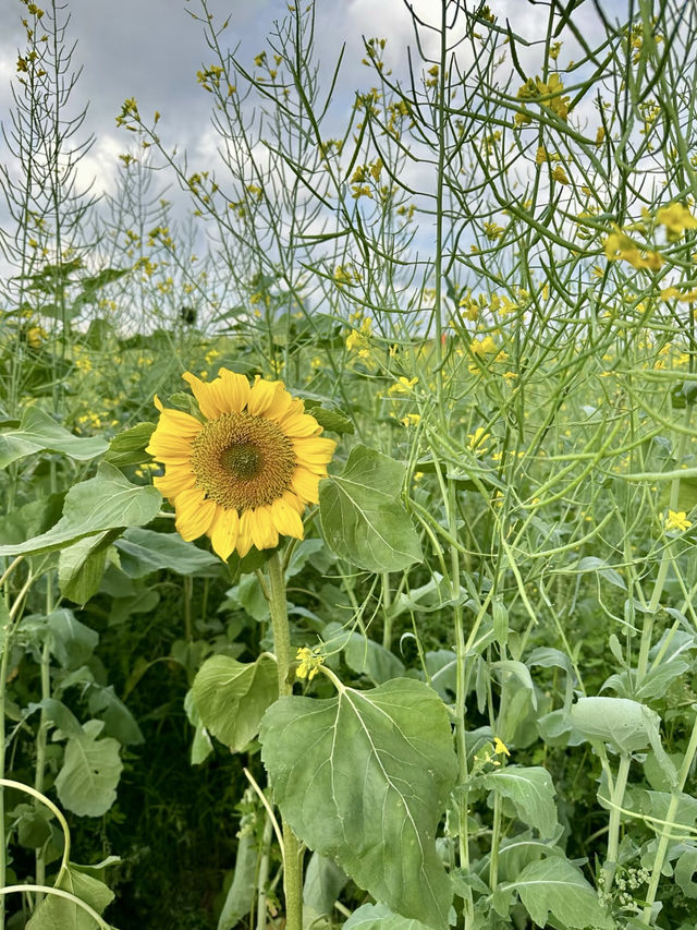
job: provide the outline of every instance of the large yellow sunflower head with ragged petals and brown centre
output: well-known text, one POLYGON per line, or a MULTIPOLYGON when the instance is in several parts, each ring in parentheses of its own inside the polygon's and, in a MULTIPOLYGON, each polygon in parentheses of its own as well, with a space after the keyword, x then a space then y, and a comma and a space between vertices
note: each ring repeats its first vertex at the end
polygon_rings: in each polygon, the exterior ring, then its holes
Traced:
POLYGON ((166 409, 147 451, 164 464, 156 487, 176 512, 185 540, 204 533, 222 559, 233 549, 245 556, 254 545, 273 548, 279 535, 303 539, 301 515, 316 504, 318 485, 335 448, 305 413, 283 382, 220 369, 203 382, 182 375, 196 398, 201 420, 166 409))

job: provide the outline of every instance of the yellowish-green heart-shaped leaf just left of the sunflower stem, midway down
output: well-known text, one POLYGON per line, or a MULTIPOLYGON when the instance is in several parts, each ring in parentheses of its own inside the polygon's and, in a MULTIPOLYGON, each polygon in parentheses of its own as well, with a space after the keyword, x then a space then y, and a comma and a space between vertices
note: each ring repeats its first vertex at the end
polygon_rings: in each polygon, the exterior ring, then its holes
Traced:
POLYGON ((279 696, 276 662, 269 655, 252 663, 212 655, 199 668, 192 691, 206 729, 241 752, 257 735, 266 709, 279 696))

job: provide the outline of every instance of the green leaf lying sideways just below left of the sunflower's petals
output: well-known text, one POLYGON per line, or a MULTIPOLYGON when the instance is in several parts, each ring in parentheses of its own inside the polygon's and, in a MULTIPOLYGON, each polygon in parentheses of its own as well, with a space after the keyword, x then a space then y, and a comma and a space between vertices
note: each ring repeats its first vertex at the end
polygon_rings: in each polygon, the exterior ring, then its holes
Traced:
POLYGON ((157 533, 134 527, 125 531, 115 546, 121 569, 130 578, 144 578, 161 568, 178 575, 213 576, 223 567, 217 556, 185 542, 179 533, 157 533))

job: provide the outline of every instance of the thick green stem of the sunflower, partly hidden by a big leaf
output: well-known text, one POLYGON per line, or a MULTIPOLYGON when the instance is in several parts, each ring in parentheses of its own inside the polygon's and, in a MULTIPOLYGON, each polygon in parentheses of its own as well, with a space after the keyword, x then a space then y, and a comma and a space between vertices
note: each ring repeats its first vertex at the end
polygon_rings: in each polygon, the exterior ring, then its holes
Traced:
MULTIPOLYGON (((288 604, 285 600, 285 577, 278 551, 267 563, 269 572, 269 608, 271 626, 273 627, 273 648, 279 676, 279 697, 293 693, 293 685, 289 684, 291 665, 291 630, 288 621, 288 604)), ((281 820, 283 830, 283 891, 285 894, 285 928, 302 930, 303 928, 303 870, 302 848, 299 841, 285 820, 281 820)))

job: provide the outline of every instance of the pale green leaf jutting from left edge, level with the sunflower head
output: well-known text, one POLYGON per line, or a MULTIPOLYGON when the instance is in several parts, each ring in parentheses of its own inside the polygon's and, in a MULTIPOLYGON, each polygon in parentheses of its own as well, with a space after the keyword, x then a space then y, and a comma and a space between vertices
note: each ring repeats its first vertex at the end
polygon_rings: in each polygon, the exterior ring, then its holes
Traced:
POLYGON ((0 468, 35 452, 63 452, 78 461, 102 455, 108 444, 100 436, 73 436, 39 407, 27 407, 16 430, 0 433, 0 468))

